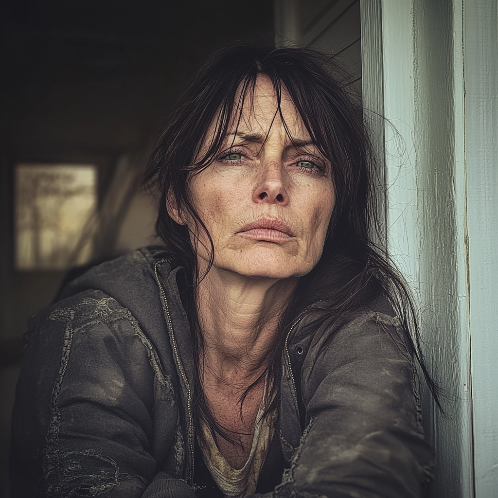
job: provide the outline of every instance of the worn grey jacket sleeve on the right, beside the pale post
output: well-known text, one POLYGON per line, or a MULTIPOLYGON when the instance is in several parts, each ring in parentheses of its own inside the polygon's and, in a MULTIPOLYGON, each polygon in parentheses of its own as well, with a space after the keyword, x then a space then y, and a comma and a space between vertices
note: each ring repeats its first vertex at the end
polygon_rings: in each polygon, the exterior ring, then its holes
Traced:
POLYGON ((395 317, 369 312, 317 334, 302 368, 306 429, 273 496, 423 496, 432 451, 416 381, 395 317))

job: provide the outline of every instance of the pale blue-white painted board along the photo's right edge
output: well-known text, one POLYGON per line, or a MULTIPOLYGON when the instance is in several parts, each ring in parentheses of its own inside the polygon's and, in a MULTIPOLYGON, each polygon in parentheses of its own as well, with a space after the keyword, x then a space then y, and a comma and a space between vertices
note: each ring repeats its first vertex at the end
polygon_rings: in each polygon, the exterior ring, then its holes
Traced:
POLYGON ((498 9, 464 2, 470 335, 476 497, 498 493, 498 9))

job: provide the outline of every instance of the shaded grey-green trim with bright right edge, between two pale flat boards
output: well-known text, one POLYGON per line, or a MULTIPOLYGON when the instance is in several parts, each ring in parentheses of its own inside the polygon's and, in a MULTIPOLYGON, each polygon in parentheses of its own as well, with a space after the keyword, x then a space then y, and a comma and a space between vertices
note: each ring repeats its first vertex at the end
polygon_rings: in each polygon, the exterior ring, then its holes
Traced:
POLYGON ((423 334, 451 417, 434 412, 432 496, 472 497, 461 0, 415 0, 413 16, 423 334))

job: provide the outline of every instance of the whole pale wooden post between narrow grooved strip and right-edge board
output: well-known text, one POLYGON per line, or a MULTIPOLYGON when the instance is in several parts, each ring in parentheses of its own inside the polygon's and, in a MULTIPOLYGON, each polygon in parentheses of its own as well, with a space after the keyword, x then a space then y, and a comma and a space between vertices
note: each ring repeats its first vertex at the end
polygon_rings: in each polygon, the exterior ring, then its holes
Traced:
POLYGON ((474 496, 462 22, 461 1, 382 0, 387 247, 450 417, 425 393, 438 498, 474 496))

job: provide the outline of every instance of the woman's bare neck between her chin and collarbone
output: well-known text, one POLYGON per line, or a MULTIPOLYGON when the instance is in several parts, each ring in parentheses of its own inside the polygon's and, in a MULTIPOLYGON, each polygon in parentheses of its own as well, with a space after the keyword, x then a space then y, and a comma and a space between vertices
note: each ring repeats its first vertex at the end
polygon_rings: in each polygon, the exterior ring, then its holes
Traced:
POLYGON ((214 377, 234 387, 257 378, 296 283, 297 278, 253 278, 211 268, 199 284, 196 301, 203 360, 214 377))

